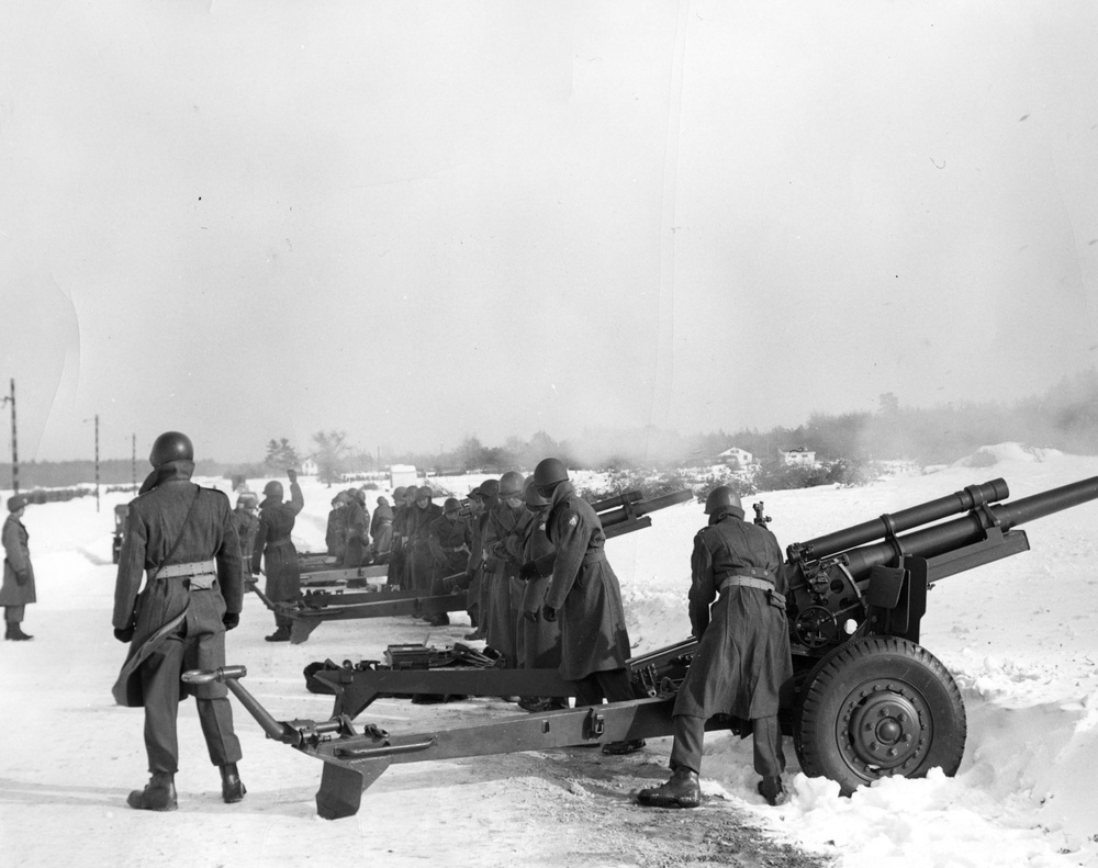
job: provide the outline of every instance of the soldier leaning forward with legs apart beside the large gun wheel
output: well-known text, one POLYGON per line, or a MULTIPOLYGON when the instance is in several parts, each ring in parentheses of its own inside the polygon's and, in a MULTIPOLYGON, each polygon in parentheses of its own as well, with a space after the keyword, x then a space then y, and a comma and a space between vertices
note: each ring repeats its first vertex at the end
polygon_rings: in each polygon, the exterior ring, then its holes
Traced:
POLYGON ((782 550, 768 528, 743 520, 740 498, 728 486, 709 493, 705 512, 709 523, 694 537, 691 555, 690 620, 698 646, 675 699, 672 775, 637 799, 697 808, 705 722, 724 713, 751 721, 759 792, 782 804, 778 695, 793 678, 782 550))

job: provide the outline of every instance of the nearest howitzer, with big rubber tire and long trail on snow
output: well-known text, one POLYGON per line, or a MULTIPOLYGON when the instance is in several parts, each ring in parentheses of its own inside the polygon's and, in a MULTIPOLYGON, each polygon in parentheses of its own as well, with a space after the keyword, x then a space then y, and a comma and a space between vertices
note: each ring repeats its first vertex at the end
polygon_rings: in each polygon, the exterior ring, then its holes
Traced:
MULTIPOLYGON (((1007 495, 1006 484, 996 480, 789 546, 783 570, 789 580, 795 676, 781 720, 805 774, 829 777, 849 794, 882 777, 921 777, 934 767, 956 773, 965 709, 949 670, 918 644, 927 589, 938 579, 1028 551, 1017 527, 1095 500, 1098 477, 996 503, 1007 495), (950 520, 915 523, 942 519, 950 520), (901 527, 911 532, 899 536, 901 527)), ((687 640, 672 647, 685 661, 694 644, 687 640)), ((362 791, 393 763, 670 735, 676 684, 661 677, 657 695, 648 698, 390 736, 372 726, 356 731, 346 712, 365 694, 352 698, 348 683, 338 678, 328 683, 344 691, 343 706, 337 700, 344 712, 322 723, 279 722, 236 683, 243 674, 243 667, 226 667, 183 677, 224 679, 269 737, 323 760, 316 804, 329 819, 354 814, 362 791)), ((707 722, 707 729, 727 725, 707 722)))

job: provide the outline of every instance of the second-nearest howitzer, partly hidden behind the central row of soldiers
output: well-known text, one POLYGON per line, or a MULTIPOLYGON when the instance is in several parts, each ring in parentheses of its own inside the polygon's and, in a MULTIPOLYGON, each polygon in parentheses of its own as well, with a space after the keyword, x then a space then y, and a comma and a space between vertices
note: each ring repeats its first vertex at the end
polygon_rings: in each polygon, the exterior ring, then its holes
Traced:
MULTIPOLYGON (((600 514, 603 522, 603 530, 606 539, 613 539, 624 533, 631 533, 641 528, 652 525, 650 512, 664 509, 675 504, 682 504, 693 499, 694 495, 688 491, 672 492, 649 500, 642 500, 640 492, 626 492, 625 494, 610 497, 594 504, 595 510, 600 514)), ((548 561, 548 568, 551 570, 552 562, 548 561)), ((382 571, 384 567, 359 567, 357 575, 373 575, 370 571, 382 571)), ((327 571, 312 573, 310 578, 315 582, 324 576, 338 577, 348 571, 327 571)), ((377 573, 378 576, 383 573, 377 573)), ((461 574, 447 576, 442 579, 458 578, 461 574)), ((302 577, 302 583, 305 577, 302 577)), ((272 608, 269 600, 260 595, 265 605, 272 608)), ((423 591, 402 591, 397 588, 386 589, 382 595, 358 601, 356 605, 348 605, 346 599, 335 596, 325 598, 313 597, 312 600, 300 599, 291 604, 277 604, 278 613, 290 619, 290 642, 301 644, 305 642, 312 632, 325 621, 346 621, 360 618, 391 618, 395 616, 408 615, 413 617, 425 617, 432 615, 444 615, 448 612, 462 611, 466 608, 468 597, 464 591, 429 595, 423 591), (323 604, 323 605, 322 605, 323 604)), ((272 609, 273 610, 273 609, 272 609)), ((451 691, 459 692, 459 691, 451 691)))

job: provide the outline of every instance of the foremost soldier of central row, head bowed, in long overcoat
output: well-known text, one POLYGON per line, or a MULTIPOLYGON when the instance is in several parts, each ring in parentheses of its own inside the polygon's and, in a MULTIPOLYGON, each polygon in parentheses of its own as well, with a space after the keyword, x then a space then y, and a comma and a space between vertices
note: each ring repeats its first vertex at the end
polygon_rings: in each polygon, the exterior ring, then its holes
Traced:
MULTIPOLYGON (((559 459, 538 462, 534 482, 549 499, 546 534, 557 549, 542 617, 551 621, 560 615, 560 675, 573 683, 576 707, 634 699, 621 588, 603 551, 598 514, 575 493, 559 459)), ((533 563, 523 565, 524 577, 536 574, 533 563)), ((628 754, 643 746, 642 739, 610 742, 603 753, 628 754)))

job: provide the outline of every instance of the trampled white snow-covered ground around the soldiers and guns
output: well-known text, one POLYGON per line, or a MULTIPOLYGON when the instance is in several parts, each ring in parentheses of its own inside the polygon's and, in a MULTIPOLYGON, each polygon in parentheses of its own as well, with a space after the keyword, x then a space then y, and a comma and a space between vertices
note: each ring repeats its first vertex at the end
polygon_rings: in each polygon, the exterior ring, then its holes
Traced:
MULTIPOLYGON (((999 476, 1013 499, 1098 475, 1098 458, 1016 444, 987 452, 991 465, 981 455, 973 462, 977 467, 959 462, 861 488, 775 492, 757 499, 765 501, 784 546, 999 476)), ((463 495, 478 481, 439 482, 463 495)), ((225 481, 204 482, 227 491, 225 481)), ((321 551, 335 489, 302 482, 306 503, 295 539, 301 550, 321 551)), ((374 494, 381 492, 371 493, 371 509, 374 494)), ((221 802, 188 702, 180 710, 179 811, 127 809, 126 792, 142 786, 146 774, 142 713, 115 707, 110 695, 124 655, 110 624, 112 510, 125 499, 107 495, 99 512, 93 498, 26 510, 38 602, 25 621, 34 641, 0 649, 7 733, 0 751, 0 864, 580 864, 580 845, 554 844, 568 828, 540 820, 539 804, 569 799, 582 809, 606 797, 585 778, 558 787, 552 754, 524 755, 520 763, 503 756, 394 767, 366 792, 355 818, 328 823, 314 813, 320 764, 266 741, 238 706, 240 769, 249 790, 244 802, 221 802)), ((608 543, 637 651, 687 636, 691 540, 703 523, 701 506, 685 504, 653 514, 651 529, 608 543)), ((710 797, 705 809, 653 814, 638 807, 628 809, 635 812, 629 816, 648 823, 657 822, 648 819, 656 814, 673 815, 690 824, 712 822, 715 811, 746 811, 778 838, 834 856, 848 868, 1098 868, 1098 504, 1023 529, 1030 552, 944 579, 930 594, 922 644, 954 674, 968 711, 968 743, 955 778, 887 780, 848 799, 837 785, 806 778, 793 758, 792 799, 770 808, 754 792, 750 740, 713 734, 702 770, 710 797)), ((228 662, 247 665, 246 686, 277 718, 323 720, 330 698, 305 691, 301 673, 307 663, 379 660, 390 643, 450 644, 468 629, 455 620, 435 630, 408 618, 329 622, 302 645, 270 645, 262 636, 271 619, 249 597, 240 628, 229 634, 228 662)), ((380 700, 362 720, 399 730, 507 713, 514 706, 498 700, 442 707, 380 700)), ((592 773, 628 762, 636 786, 649 786, 663 777, 670 747, 669 739, 656 740, 631 757, 578 762, 592 773)), ((569 768, 574 771, 575 762, 569 768)), ((586 841, 583 847, 585 865, 651 864, 613 830, 602 844, 586 841)))

